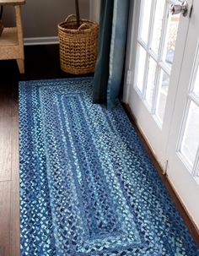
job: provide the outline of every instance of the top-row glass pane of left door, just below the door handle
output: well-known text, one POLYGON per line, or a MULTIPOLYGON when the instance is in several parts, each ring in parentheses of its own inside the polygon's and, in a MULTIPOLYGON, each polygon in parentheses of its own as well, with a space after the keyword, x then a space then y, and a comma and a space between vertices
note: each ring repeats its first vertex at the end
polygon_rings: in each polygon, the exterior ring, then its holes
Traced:
POLYGON ((174 60, 175 42, 177 38, 179 19, 180 19, 180 14, 178 15, 169 14, 163 60, 165 63, 169 65, 170 68, 174 60))

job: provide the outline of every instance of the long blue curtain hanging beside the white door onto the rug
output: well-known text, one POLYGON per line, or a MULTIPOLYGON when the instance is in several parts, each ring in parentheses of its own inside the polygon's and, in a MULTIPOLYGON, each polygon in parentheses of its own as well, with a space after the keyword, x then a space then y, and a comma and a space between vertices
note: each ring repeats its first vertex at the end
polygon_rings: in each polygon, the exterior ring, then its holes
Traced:
POLYGON ((94 103, 114 107, 121 89, 130 0, 101 0, 94 103))

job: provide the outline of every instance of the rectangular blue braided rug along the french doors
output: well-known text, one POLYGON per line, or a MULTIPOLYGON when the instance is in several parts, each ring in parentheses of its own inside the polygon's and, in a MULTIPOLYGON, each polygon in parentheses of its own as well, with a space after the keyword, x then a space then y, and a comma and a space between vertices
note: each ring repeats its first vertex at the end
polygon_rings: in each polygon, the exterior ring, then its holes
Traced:
POLYGON ((21 256, 196 256, 121 105, 93 78, 20 82, 21 256))

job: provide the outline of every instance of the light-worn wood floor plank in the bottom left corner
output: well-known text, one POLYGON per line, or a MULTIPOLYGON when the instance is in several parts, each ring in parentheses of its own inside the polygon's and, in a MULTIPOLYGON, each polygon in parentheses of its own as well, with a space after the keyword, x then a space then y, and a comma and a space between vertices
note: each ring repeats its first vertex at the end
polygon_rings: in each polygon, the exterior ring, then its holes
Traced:
POLYGON ((0 182, 0 256, 10 255, 10 182, 0 182))

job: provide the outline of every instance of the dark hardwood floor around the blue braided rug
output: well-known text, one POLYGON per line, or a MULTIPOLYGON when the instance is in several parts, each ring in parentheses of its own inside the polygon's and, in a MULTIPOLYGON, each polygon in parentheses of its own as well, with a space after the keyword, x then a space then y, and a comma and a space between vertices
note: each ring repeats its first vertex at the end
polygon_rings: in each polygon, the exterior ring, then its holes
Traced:
MULTIPOLYGON (((0 61, 0 256, 19 256, 19 80, 74 77, 60 69, 58 45, 24 50, 25 74, 19 74, 15 61, 0 61)), ((191 221, 168 189, 199 244, 191 221)))

